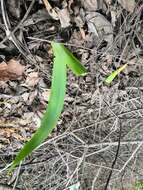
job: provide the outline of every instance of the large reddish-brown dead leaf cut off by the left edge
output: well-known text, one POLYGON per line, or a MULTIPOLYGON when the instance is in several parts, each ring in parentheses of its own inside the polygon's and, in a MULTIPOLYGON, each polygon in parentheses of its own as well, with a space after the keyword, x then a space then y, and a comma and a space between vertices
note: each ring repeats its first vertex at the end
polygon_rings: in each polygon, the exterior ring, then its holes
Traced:
POLYGON ((19 61, 11 59, 7 63, 0 63, 0 81, 15 80, 22 76, 24 66, 19 61))

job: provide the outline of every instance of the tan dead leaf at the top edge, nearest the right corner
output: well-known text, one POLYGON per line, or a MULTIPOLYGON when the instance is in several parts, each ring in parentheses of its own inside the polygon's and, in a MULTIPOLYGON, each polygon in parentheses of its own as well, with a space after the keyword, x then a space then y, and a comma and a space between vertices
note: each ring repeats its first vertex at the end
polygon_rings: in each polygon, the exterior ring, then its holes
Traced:
POLYGON ((129 12, 133 12, 136 7, 135 0, 118 0, 121 6, 129 12))

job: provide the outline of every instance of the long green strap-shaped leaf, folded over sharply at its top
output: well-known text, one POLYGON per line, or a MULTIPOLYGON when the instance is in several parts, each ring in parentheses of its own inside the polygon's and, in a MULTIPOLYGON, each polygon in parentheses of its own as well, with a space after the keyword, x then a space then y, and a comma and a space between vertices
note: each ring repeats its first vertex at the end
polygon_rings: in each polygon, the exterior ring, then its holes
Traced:
POLYGON ((52 74, 52 86, 49 103, 41 121, 41 126, 33 137, 24 145, 12 163, 11 170, 18 165, 27 155, 36 149, 52 132, 57 124, 63 109, 66 93, 66 73, 69 68, 76 75, 85 75, 86 70, 80 62, 67 50, 64 45, 52 42, 54 52, 54 66, 52 74))

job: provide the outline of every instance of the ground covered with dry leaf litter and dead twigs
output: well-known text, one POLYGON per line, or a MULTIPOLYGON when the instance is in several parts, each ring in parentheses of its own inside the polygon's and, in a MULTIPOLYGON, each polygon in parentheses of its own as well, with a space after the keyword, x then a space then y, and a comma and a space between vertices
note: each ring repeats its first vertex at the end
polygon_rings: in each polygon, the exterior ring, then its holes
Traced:
POLYGON ((0 190, 132 190, 143 179, 143 1, 0 3, 0 190), (56 129, 8 175, 48 103, 52 40, 88 74, 68 72, 56 129))

